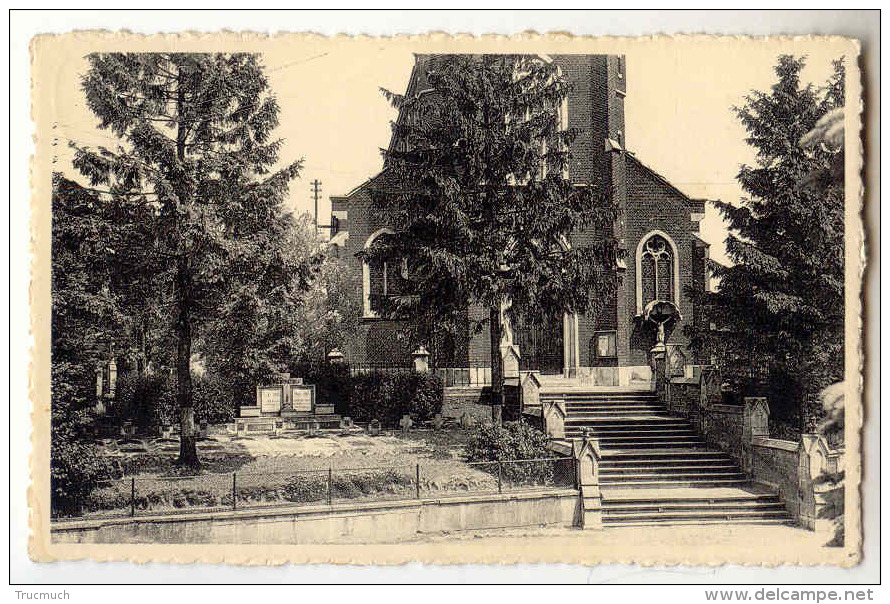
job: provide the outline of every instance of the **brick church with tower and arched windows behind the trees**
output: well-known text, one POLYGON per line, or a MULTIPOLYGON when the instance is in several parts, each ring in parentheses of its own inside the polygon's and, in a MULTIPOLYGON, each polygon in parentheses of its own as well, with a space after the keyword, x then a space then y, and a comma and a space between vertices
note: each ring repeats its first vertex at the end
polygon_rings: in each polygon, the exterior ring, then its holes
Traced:
MULTIPOLYGON (((422 89, 432 59, 416 56, 407 94, 422 89)), ((568 178, 577 183, 602 182, 617 196, 615 233, 625 253, 615 266, 618 289, 596 316, 565 314, 555 325, 508 329, 502 350, 519 357, 520 370, 604 386, 648 384, 656 330, 644 320, 644 310, 654 300, 666 300, 679 311, 666 334, 669 367, 674 375, 689 372, 695 358, 686 349, 683 327, 700 321, 701 314, 686 289, 704 289, 707 283, 708 244, 699 237, 705 201, 685 195, 628 148, 623 56, 553 55, 542 60, 553 61, 571 82, 560 108, 562 123, 579 131, 570 149, 568 178)), ((342 351, 355 366, 405 366, 414 348, 400 336, 398 322, 379 317, 375 310, 379 296, 403 287, 400 267, 376 266, 356 255, 386 236, 388 225, 374 211, 370 196, 372 187, 385 186, 384 169, 347 195, 331 197, 330 243, 353 271, 356 283, 361 283, 364 301, 360 334, 342 351)), ((571 245, 585 233, 566 236, 571 245)), ((470 307, 467 313, 468 323, 487 316, 482 308, 470 307)), ((490 375, 487 331, 467 330, 445 340, 428 343, 434 366, 450 376, 484 383, 490 375)))

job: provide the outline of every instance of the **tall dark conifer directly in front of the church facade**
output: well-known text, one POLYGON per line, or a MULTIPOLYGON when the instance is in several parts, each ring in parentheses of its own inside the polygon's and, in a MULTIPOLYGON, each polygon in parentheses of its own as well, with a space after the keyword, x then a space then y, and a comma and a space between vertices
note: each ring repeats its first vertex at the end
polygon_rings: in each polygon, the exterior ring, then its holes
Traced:
POLYGON ((445 55, 421 68, 423 90, 384 91, 400 118, 374 199, 395 234, 368 257, 406 263, 410 286, 381 301, 385 316, 443 330, 465 320, 469 305, 488 309, 499 420, 502 309, 530 323, 595 308, 614 287, 615 210, 597 183, 565 177, 578 133, 562 127, 569 85, 554 64, 445 55), (580 228, 602 236, 567 249, 565 238, 580 228))

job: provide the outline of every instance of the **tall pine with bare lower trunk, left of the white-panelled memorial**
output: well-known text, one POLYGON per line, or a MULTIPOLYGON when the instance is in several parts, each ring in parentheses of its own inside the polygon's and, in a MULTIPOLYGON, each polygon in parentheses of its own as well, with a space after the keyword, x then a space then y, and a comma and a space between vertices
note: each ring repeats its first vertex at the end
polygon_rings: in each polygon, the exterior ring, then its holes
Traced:
MULTIPOLYGON (((299 162, 273 171, 278 105, 252 54, 102 53, 82 87, 115 149, 74 145, 93 187, 152 209, 153 255, 172 289, 179 462, 198 466, 190 361, 202 322, 282 236, 299 162)), ((165 279, 160 279, 163 282, 165 279)))

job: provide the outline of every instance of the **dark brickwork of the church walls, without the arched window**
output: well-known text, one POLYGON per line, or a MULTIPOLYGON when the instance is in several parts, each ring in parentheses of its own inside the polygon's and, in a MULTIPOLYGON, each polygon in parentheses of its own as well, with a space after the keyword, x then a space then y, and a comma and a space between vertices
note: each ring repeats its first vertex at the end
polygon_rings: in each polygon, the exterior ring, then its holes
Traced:
MULTIPOLYGON (((682 334, 685 322, 695 320, 691 301, 683 293, 686 285, 703 282, 703 257, 694 254, 695 234, 698 224, 690 220, 694 202, 676 191, 669 184, 642 166, 637 160, 628 158, 621 151, 606 151, 606 139, 612 139, 627 147, 624 137, 624 92, 626 79, 623 58, 613 55, 555 55, 553 61, 572 83, 572 93, 568 99, 568 124, 577 129, 579 135, 572 144, 570 178, 575 183, 596 183, 612 191, 616 202, 622 208, 614 233, 624 241, 627 250, 626 270, 621 271, 622 283, 615 296, 602 301, 599 312, 592 316, 582 316, 578 320, 578 350, 580 366, 594 364, 590 354, 595 332, 616 330, 619 365, 646 365, 648 351, 655 342, 655 331, 649 325, 641 325, 636 319, 636 267, 635 252, 640 238, 653 229, 666 232, 676 243, 680 259, 680 311, 684 322, 676 325, 669 335, 670 343, 685 345, 682 334)), ((419 57, 420 62, 428 60, 419 57)), ((412 73, 409 90, 416 88, 422 74, 421 69, 412 73)), ((368 237, 380 228, 387 226, 386 217, 371 207, 369 189, 386 185, 386 171, 360 187, 347 197, 332 198, 332 209, 347 211, 347 218, 341 219, 341 230, 349 231, 349 239, 340 253, 350 270, 362 274, 362 263, 355 254, 362 249, 368 237)), ((694 211, 699 211, 695 209, 694 211)), ((591 243, 602 233, 590 230, 572 233, 573 246, 591 243)), ((701 242, 698 242, 701 248, 701 242)), ((617 269, 616 269, 617 270, 617 269)), ((485 309, 469 309, 469 318, 482 318, 485 309)), ((368 346, 378 341, 386 343, 380 354, 393 351, 392 337, 381 336, 383 327, 365 326, 361 341, 345 350, 347 356, 357 360, 367 360, 369 354, 376 355, 368 346)), ((397 326, 397 325, 396 325, 397 326)), ((389 329, 389 328, 387 328, 389 329)), ((467 344, 469 363, 478 364, 490 359, 488 331, 471 334, 467 344)), ((691 358, 691 357, 690 357, 691 358)))

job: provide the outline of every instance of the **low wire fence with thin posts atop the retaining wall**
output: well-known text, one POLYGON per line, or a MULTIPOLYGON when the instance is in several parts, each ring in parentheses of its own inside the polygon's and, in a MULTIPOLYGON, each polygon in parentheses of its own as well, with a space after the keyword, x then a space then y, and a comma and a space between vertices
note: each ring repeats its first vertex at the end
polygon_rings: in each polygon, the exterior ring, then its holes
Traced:
POLYGON ((134 476, 100 482, 78 518, 572 489, 577 488, 575 476, 575 462, 571 458, 134 476))

